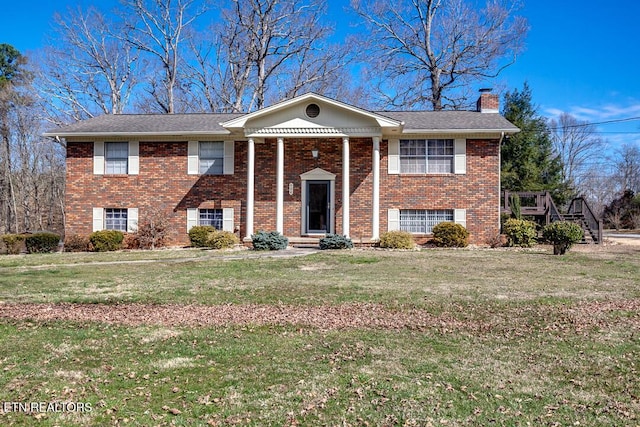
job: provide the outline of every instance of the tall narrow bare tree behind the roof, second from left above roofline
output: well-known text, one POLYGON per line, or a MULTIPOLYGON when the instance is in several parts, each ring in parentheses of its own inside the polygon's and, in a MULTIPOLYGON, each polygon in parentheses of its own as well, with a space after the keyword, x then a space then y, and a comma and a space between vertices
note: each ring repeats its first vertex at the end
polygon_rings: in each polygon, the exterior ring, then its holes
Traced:
POLYGON ((164 113, 175 112, 175 90, 183 54, 183 42, 191 24, 205 10, 196 0, 125 0, 125 16, 131 30, 126 41, 158 61, 148 92, 164 113))

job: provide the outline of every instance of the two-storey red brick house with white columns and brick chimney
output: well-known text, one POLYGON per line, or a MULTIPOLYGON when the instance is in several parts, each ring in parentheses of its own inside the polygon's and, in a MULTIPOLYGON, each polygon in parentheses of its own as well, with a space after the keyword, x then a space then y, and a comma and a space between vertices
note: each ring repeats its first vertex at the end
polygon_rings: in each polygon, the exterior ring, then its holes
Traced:
POLYGON ((497 95, 477 105, 372 112, 308 93, 249 114, 104 115, 46 135, 67 144, 67 235, 134 231, 160 213, 170 244, 205 224, 245 239, 369 243, 400 229, 425 241, 441 221, 484 244, 499 232, 500 143, 518 129, 497 95))

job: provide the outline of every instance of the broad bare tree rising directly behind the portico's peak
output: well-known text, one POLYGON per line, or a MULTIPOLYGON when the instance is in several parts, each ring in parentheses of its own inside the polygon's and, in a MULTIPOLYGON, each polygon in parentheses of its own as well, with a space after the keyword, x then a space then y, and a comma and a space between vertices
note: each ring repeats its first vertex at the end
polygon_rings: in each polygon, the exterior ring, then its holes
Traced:
POLYGON ((231 0, 213 40, 192 44, 192 82, 211 111, 241 112, 305 91, 339 93, 353 57, 328 43, 324 0, 231 0))

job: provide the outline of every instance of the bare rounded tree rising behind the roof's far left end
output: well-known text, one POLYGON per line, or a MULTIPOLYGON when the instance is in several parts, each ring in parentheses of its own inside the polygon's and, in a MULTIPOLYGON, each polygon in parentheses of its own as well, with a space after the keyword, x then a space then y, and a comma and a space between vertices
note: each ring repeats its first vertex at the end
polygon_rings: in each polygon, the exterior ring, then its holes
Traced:
POLYGON ((55 16, 56 42, 38 79, 49 120, 59 125, 99 114, 119 114, 138 83, 139 52, 123 41, 127 28, 94 7, 55 16))

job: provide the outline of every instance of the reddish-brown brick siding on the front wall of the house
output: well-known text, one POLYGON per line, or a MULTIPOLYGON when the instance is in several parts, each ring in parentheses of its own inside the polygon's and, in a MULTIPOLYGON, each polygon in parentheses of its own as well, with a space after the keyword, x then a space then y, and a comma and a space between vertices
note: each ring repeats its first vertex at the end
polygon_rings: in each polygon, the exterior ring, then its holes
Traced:
MULTIPOLYGON (((276 226, 276 140, 256 143, 254 230, 276 226)), ((372 143, 350 139, 351 237, 371 237, 372 143)), ((387 174, 387 142, 380 143, 380 231, 387 209, 466 209, 471 241, 485 243, 498 233, 499 161, 497 141, 469 140, 466 175, 387 174)), ((187 208, 234 208, 234 224, 244 237, 246 142, 236 142, 234 175, 188 175, 187 142, 140 142, 139 175, 93 174, 93 143, 68 142, 66 233, 92 231, 92 208, 138 208, 140 223, 151 212, 170 221, 171 244, 187 244, 187 208)), ((284 232, 300 235, 300 175, 316 167, 336 175, 335 229, 342 233, 342 139, 285 139, 284 232), (311 150, 318 148, 318 160, 311 150), (293 194, 289 194, 289 184, 293 194)))

